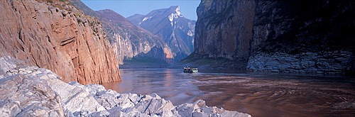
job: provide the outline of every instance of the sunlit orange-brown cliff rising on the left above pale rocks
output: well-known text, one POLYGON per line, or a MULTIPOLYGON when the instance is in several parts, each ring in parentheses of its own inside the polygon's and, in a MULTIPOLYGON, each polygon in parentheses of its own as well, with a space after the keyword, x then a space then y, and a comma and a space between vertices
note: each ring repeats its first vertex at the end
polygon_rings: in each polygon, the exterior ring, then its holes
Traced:
POLYGON ((99 21, 67 1, 0 2, 0 56, 51 69, 64 82, 121 80, 116 54, 99 21))

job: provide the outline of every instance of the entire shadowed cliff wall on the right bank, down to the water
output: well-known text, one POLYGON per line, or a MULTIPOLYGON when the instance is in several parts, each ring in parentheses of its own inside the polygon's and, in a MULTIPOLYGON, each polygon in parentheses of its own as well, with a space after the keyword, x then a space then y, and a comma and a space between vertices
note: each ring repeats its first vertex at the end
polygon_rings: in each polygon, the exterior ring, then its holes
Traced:
POLYGON ((354 72, 354 5, 205 0, 197 8, 195 57, 249 59, 252 71, 354 72))

